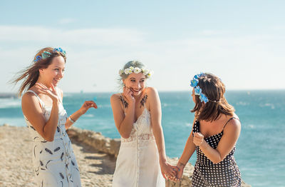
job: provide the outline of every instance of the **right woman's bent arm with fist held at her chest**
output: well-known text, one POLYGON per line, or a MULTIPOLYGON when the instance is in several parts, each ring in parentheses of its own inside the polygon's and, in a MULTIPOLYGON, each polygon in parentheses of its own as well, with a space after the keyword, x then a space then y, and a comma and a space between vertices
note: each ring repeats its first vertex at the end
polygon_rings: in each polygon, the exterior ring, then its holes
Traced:
POLYGON ((199 146, 201 151, 207 158, 213 163, 219 163, 224 160, 224 158, 229 154, 234 148, 239 138, 239 133, 241 131, 241 123, 238 120, 232 119, 229 121, 227 126, 224 127, 224 133, 219 141, 216 149, 209 146, 209 144, 204 141, 204 136, 202 133, 194 133, 193 143, 199 146))

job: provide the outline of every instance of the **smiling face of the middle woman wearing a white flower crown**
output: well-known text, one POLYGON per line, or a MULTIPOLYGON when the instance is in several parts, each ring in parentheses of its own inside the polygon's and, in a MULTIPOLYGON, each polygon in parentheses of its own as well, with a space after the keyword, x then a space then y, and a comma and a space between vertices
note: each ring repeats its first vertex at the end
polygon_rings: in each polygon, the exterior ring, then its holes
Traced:
POLYGON ((145 75, 142 73, 130 74, 127 79, 123 80, 123 83, 133 91, 133 96, 140 96, 143 89, 145 89, 145 75))

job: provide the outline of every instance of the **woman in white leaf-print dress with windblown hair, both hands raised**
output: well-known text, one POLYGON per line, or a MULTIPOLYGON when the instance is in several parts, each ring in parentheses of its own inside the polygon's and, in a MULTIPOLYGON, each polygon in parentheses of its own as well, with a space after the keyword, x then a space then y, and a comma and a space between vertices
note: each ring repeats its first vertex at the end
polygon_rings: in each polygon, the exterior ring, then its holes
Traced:
POLYGON ((23 80, 19 96, 28 89, 22 97, 22 111, 33 138, 33 171, 38 186, 81 186, 66 129, 89 108, 97 106, 93 101, 86 101, 78 111, 67 116, 62 103, 63 92, 57 87, 65 64, 65 51, 44 48, 14 81, 23 80))

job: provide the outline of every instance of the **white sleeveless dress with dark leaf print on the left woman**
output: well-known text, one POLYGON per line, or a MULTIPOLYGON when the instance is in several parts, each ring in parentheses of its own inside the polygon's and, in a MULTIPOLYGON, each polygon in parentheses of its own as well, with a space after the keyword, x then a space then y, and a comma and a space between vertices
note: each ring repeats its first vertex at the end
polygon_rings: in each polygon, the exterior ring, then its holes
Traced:
MULTIPOLYGON (((58 91, 58 90, 57 90, 58 91)), ((45 106, 38 95, 34 93, 41 103, 46 121, 51 115, 51 107, 45 106)), ((81 186, 78 165, 73 153, 71 141, 66 133, 67 113, 62 102, 59 104, 58 126, 53 141, 46 141, 33 128, 24 116, 28 129, 33 138, 33 171, 38 186, 78 187, 81 186)))

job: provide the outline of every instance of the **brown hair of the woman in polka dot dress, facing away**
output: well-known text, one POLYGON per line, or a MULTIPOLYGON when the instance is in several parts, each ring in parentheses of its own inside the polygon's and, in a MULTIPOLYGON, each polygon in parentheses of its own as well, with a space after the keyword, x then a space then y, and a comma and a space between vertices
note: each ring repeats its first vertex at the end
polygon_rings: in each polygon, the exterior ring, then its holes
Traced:
POLYGON ((219 77, 207 73, 200 76, 198 80, 197 86, 202 89, 202 93, 209 101, 201 102, 199 96, 195 96, 195 107, 191 112, 195 112, 197 120, 214 121, 221 113, 233 116, 234 107, 224 97, 226 89, 219 77))

